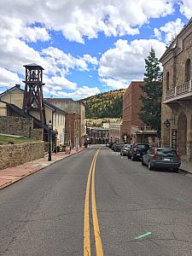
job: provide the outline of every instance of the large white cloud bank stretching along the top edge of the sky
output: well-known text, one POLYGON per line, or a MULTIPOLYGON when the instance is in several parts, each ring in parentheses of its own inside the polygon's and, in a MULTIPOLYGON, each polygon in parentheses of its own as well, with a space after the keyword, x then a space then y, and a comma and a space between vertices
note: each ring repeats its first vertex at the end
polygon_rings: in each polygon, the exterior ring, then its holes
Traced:
MULTIPOLYGON (((46 28, 61 31, 69 40, 84 43, 84 36, 96 38, 98 32, 107 36, 137 34, 138 27, 150 18, 172 14, 173 3, 175 0, 155 0, 155 4, 154 0, 48 0, 40 4, 38 0, 2 0, 0 16, 12 28, 9 32, 14 32, 15 24, 18 30, 39 22, 46 28)), ((44 37, 49 39, 45 33, 44 37)))

